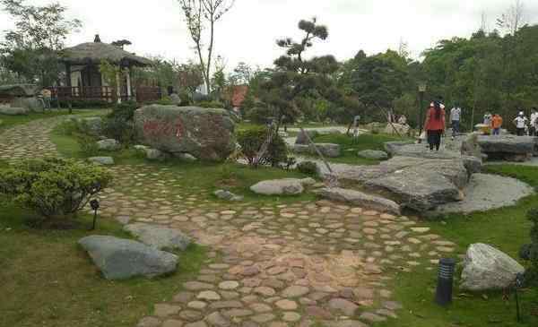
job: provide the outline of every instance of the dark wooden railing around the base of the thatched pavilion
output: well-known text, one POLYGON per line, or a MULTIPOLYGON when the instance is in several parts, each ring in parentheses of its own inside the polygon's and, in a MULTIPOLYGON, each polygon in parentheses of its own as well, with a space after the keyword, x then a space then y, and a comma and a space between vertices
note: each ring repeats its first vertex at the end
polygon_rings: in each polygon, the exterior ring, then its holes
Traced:
MULTIPOLYGON (((59 86, 50 87, 53 99, 59 99, 60 101, 70 100, 101 100, 110 103, 117 102, 116 88, 111 86, 59 86)), ((136 89, 136 101, 150 102, 161 99, 161 88, 143 86, 136 89)), ((126 94, 121 94, 122 101, 129 100, 126 94)), ((134 99, 134 96, 131 96, 134 99)))

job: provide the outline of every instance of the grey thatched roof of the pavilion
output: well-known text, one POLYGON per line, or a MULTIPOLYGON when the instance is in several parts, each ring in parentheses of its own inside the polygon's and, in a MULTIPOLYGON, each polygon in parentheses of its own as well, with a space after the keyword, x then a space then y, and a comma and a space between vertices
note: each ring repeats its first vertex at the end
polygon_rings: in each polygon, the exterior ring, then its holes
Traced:
POLYGON ((60 61, 71 65, 99 65, 103 60, 116 65, 152 65, 152 61, 149 59, 135 56, 120 47, 101 42, 88 42, 68 47, 60 55, 60 61))

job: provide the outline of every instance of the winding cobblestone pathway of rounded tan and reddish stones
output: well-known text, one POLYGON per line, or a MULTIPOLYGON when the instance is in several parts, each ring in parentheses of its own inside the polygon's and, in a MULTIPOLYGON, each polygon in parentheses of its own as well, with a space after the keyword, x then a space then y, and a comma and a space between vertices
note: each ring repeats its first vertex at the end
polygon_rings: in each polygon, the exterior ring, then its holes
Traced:
MULTIPOLYGON (((54 151, 54 124, 0 134, 0 158, 54 151)), ((397 319, 403 309, 393 300, 390 271, 434 270, 454 252, 453 243, 407 217, 325 201, 216 202, 210 190, 168 168, 112 169, 103 215, 178 228, 212 249, 197 279, 156 304, 138 327, 368 326, 397 319)))

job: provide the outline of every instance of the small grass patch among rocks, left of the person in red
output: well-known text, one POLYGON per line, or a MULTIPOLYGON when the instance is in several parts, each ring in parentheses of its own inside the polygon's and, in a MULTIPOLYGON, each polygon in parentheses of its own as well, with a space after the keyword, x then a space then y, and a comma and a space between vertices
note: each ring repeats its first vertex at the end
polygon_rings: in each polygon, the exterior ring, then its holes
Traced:
POLYGON ((358 138, 353 138, 346 134, 319 135, 314 139, 314 142, 340 144, 343 154, 338 158, 327 158, 331 162, 354 165, 377 165, 379 163, 378 160, 360 158, 357 156, 357 152, 363 150, 385 151, 383 146, 385 142, 401 140, 397 136, 366 133, 360 135, 358 138))

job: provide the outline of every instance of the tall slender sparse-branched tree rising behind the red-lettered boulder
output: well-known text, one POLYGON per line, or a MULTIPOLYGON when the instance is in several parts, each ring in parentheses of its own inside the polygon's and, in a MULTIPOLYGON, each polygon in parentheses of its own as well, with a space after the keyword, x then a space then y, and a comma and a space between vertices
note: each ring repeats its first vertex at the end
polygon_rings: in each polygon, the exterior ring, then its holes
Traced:
POLYGON ((195 42, 195 50, 204 72, 204 82, 207 92, 212 91, 212 65, 215 40, 215 25, 228 13, 235 0, 178 0, 187 21, 187 28, 195 42), (208 36, 204 38, 204 29, 208 36), (205 41, 204 41, 205 39, 205 41), (207 40, 208 39, 208 40, 207 40), (207 44, 204 56, 204 44, 207 44))

